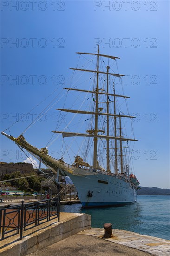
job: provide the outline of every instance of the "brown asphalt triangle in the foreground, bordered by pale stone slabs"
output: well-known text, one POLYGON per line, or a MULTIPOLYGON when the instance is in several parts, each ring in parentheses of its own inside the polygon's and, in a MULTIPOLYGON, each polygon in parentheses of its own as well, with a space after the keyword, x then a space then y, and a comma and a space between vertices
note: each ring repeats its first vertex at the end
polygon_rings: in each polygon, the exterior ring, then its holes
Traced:
POLYGON ((79 233, 27 256, 150 256, 150 254, 79 233))

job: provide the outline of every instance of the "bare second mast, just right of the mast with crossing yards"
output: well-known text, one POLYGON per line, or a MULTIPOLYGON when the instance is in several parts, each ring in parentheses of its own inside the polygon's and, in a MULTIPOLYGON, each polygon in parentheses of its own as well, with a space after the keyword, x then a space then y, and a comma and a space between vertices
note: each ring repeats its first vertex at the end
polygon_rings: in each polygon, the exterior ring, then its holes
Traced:
MULTIPOLYGON (((107 66, 107 94, 109 93, 109 81, 108 81, 108 72, 110 67, 107 66)), ((109 96, 107 95, 107 113, 109 113, 109 96)), ((109 136, 109 115, 107 116, 107 136, 109 136)), ((107 141, 107 172, 110 172, 110 162, 109 162, 109 138, 107 141)))

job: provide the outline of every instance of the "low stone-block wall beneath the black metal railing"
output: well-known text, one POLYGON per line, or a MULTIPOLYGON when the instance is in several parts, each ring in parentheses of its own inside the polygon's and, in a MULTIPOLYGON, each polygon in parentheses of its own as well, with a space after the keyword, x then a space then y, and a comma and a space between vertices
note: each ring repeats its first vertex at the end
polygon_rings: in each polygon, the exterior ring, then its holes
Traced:
POLYGON ((24 256, 90 228, 90 215, 60 213, 60 222, 53 219, 24 231, 22 240, 16 235, 0 241, 0 256, 24 256))

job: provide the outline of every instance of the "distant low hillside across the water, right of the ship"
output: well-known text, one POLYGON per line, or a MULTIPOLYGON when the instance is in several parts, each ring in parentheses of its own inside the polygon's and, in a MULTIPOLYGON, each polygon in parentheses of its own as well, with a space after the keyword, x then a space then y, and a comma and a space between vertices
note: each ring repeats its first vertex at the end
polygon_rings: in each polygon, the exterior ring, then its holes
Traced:
POLYGON ((137 195, 170 195, 170 189, 141 187, 141 189, 138 190, 137 195))

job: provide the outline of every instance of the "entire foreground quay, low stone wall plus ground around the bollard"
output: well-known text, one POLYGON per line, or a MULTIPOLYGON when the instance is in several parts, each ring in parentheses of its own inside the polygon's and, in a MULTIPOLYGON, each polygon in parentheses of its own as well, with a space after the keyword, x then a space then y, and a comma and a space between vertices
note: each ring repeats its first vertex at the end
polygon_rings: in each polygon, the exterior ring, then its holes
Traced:
POLYGON ((91 216, 60 213, 55 219, 0 241, 0 256, 169 256, 170 241, 134 232, 112 229, 113 237, 103 238, 104 229, 91 228, 91 216), (18 240, 17 240, 18 239, 18 240))

